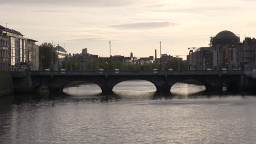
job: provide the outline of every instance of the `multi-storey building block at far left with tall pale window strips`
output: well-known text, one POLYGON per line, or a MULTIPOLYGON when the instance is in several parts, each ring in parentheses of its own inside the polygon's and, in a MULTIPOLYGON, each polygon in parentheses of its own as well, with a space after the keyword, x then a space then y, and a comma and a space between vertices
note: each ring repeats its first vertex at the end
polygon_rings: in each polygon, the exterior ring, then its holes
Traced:
MULTIPOLYGON (((36 46, 35 44, 36 41, 27 42, 27 38, 25 38, 24 35, 22 35, 18 31, 15 31, 14 29, 9 29, 7 27, 0 26, 0 31, 1 31, 1 35, 8 39, 8 44, 6 46, 8 46, 9 56, 6 56, 7 55, 6 52, 4 52, 4 55, 5 55, 5 59, 6 58, 9 59, 9 64, 8 64, 9 70, 24 71, 24 70, 30 69, 30 63, 29 63, 30 61, 28 59, 29 54, 31 56, 31 60, 33 59, 33 63, 35 63, 33 69, 37 70, 38 69, 37 65, 39 61, 38 61, 38 58, 36 58, 38 57, 38 53, 36 53, 36 51, 38 51, 38 46, 36 46), (37 50, 34 50, 34 51, 31 50, 30 52, 28 52, 27 43, 32 43, 33 49, 37 49, 37 50), (35 58, 32 58, 32 55, 36 55, 35 58)), ((3 43, 3 40, 4 39, 2 39, 2 43, 3 43)), ((5 39, 5 43, 6 43, 6 39, 5 39)), ((6 61, 4 62, 4 65, 5 64, 6 64, 6 61)))

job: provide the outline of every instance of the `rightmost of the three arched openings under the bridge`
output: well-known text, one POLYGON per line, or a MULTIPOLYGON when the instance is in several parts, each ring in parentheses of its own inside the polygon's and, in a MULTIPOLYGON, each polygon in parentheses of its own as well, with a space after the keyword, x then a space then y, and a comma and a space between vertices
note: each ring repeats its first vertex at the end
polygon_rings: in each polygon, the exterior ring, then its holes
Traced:
POLYGON ((173 95, 190 96, 204 94, 206 90, 205 85, 198 80, 182 80, 174 83, 171 87, 173 95))

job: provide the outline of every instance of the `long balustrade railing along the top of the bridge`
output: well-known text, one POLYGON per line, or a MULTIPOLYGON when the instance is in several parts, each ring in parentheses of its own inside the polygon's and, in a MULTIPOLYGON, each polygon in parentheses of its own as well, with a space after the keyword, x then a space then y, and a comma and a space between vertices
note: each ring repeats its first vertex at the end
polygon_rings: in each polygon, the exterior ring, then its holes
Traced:
POLYGON ((241 70, 66 70, 30 71, 31 75, 241 75, 241 70))

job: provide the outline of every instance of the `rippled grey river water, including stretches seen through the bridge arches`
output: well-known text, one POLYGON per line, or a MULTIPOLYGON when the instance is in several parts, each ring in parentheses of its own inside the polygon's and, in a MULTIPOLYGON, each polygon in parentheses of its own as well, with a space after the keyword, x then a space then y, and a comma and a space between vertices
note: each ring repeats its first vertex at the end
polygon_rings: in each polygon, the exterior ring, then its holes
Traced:
POLYGON ((0 98, 0 143, 256 143, 256 97, 205 95, 177 83, 155 94, 127 81, 114 94, 96 85, 68 87, 72 96, 0 98))

